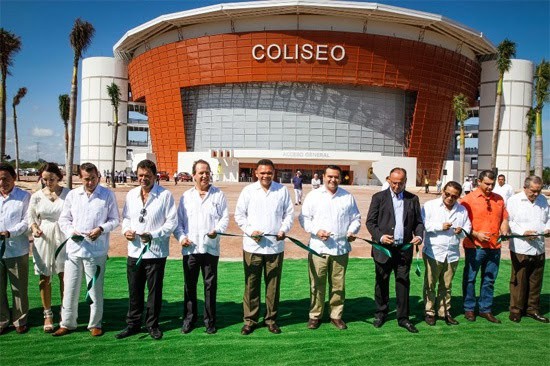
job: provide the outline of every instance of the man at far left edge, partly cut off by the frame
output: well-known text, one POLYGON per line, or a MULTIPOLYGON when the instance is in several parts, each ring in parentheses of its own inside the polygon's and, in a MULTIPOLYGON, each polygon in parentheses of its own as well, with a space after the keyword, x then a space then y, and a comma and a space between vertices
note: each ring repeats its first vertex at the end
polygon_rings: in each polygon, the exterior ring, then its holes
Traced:
POLYGON ((0 163, 0 334, 10 321, 18 334, 28 331, 29 313, 29 223, 27 209, 31 195, 15 187, 15 169, 0 163), (8 279, 12 313, 8 304, 8 279))

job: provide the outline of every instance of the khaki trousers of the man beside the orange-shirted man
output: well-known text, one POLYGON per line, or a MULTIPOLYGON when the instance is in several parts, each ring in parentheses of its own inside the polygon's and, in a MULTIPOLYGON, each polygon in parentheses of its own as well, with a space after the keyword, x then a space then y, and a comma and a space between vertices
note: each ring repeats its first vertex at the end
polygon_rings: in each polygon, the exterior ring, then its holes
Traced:
POLYGON ((451 289, 458 261, 448 263, 422 254, 426 274, 424 275, 424 312, 426 315, 435 316, 436 309, 439 317, 445 317, 451 309, 451 289), (437 287, 437 297, 435 287, 437 287))

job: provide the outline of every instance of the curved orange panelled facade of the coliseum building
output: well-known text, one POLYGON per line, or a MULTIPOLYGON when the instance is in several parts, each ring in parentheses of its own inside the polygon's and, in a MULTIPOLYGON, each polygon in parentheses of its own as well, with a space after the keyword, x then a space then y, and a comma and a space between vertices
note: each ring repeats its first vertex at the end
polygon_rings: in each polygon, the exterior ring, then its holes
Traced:
MULTIPOLYGON (((293 52, 293 49, 292 49, 293 52)), ((293 53, 292 53, 293 54, 293 53)), ((163 45, 130 62, 134 100, 145 99, 160 170, 174 172, 185 151, 181 88, 211 83, 300 81, 371 85, 416 91, 408 156, 435 182, 452 138, 452 96, 477 94, 480 65, 456 52, 388 36, 282 31, 220 34, 163 45), (252 58, 255 44, 343 45, 341 62, 252 58)))

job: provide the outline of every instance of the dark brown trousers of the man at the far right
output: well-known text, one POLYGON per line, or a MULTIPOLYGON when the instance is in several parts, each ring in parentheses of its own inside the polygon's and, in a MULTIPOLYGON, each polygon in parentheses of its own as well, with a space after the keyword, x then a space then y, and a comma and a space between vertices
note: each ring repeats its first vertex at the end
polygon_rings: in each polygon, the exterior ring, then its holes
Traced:
POLYGON ((544 253, 525 255, 511 251, 510 258, 512 259, 510 312, 538 314, 545 255, 544 253))

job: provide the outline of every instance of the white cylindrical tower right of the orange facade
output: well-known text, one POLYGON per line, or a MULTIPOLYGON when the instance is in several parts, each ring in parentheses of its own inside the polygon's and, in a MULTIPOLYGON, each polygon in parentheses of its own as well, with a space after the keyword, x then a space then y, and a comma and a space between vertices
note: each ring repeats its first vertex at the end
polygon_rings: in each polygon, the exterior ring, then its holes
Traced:
MULTIPOLYGON (((527 111, 533 104, 533 73, 531 61, 512 60, 510 71, 504 74, 501 124, 497 150, 499 174, 517 191, 525 179, 527 111)), ((491 168, 491 139, 495 113, 498 71, 495 61, 481 64, 479 106, 478 171, 491 168)))

